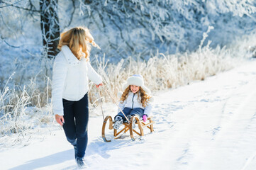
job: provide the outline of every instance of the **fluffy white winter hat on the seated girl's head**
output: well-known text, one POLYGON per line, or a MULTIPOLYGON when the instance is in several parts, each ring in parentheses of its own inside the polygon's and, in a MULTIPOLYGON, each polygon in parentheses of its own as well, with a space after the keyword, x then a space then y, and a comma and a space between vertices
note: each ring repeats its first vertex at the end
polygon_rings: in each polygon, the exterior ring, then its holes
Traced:
POLYGON ((147 94, 150 94, 151 91, 144 85, 144 79, 140 74, 134 74, 131 77, 128 77, 125 84, 123 84, 123 91, 130 85, 140 86, 147 94))

